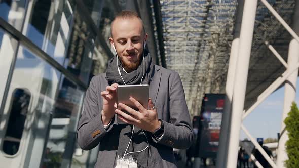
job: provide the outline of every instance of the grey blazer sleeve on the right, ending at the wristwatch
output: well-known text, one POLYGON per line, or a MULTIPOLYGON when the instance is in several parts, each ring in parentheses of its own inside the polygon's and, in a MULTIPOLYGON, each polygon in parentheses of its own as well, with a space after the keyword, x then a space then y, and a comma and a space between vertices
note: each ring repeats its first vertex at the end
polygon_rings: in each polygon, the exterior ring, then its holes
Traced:
POLYGON ((164 120, 164 134, 157 142, 176 149, 187 149, 193 142, 193 131, 181 79, 177 72, 170 76, 169 116, 164 120))

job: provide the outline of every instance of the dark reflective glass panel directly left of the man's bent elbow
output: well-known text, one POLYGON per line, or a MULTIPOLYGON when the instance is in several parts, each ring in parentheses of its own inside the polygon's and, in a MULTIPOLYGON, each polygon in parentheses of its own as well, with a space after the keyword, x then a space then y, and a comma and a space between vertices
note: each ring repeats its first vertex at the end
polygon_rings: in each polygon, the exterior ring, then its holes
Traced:
POLYGON ((66 78, 61 81, 43 159, 44 167, 68 167, 79 163, 72 159, 72 154, 84 91, 66 78))

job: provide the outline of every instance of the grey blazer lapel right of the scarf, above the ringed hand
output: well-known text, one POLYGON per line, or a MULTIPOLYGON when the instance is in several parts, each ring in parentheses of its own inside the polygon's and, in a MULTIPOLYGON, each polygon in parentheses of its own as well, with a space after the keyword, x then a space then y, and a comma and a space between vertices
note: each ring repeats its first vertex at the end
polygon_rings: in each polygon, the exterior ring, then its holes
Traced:
POLYGON ((156 102, 158 91, 160 88, 160 81, 161 81, 160 66, 155 65, 155 73, 151 77, 151 82, 149 85, 149 98, 152 98, 154 104, 156 102))

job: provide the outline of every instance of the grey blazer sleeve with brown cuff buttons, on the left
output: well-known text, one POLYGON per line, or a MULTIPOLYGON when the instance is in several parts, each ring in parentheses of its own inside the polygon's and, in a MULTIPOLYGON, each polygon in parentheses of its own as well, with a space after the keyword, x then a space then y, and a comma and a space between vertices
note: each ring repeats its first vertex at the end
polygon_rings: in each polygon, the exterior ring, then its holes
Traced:
POLYGON ((111 130, 115 120, 114 117, 107 130, 104 128, 101 120, 102 109, 99 109, 98 105, 101 100, 98 97, 101 92, 99 85, 99 80, 93 77, 84 98, 83 112, 77 130, 78 144, 84 150, 90 150, 96 147, 105 134, 111 130))

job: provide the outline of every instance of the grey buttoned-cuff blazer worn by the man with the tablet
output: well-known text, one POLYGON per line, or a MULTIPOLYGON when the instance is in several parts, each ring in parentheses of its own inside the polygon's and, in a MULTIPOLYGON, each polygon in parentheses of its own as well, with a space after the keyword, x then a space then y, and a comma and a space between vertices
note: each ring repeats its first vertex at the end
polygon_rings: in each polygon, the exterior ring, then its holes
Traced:
MULTIPOLYGON (((77 130, 78 144, 90 150, 99 143, 95 167, 113 167, 116 160, 119 134, 117 119, 105 130, 101 121, 103 100, 100 95, 108 86, 105 73, 94 76, 86 92, 84 110, 77 130)), ((172 148, 186 149, 193 141, 189 111, 182 82, 177 72, 155 65, 151 77, 149 97, 152 98, 158 116, 164 123, 164 135, 158 141, 149 141, 154 167, 177 167, 172 148)), ((114 117, 116 118, 116 117, 114 117)))

